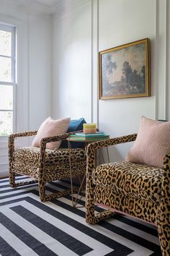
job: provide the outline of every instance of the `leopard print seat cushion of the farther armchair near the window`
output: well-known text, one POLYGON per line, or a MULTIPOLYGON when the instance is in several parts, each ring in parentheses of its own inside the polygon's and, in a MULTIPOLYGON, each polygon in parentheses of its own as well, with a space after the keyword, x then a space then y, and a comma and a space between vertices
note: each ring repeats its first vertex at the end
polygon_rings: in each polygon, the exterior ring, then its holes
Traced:
MULTIPOLYGON (((85 161, 85 150, 81 148, 71 149, 73 160, 75 162, 85 161)), ((40 158, 40 148, 36 147, 22 147, 14 150, 14 161, 22 163, 29 163, 32 166, 38 166, 40 158)), ((58 163, 69 163, 69 150, 68 148, 60 148, 58 150, 45 150, 45 165, 51 166, 58 163)))

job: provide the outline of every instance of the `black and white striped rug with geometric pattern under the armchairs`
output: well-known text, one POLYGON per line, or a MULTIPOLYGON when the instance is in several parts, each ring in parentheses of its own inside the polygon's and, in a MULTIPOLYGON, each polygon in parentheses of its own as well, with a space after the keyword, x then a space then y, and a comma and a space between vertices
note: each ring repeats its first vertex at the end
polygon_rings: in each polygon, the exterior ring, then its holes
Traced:
MULTIPOLYGON (((53 182, 48 192, 68 186, 53 182)), ((0 256, 17 255, 161 256, 161 250, 148 223, 117 215, 92 226, 85 208, 72 207, 71 196, 42 203, 37 184, 12 189, 0 179, 0 256)))

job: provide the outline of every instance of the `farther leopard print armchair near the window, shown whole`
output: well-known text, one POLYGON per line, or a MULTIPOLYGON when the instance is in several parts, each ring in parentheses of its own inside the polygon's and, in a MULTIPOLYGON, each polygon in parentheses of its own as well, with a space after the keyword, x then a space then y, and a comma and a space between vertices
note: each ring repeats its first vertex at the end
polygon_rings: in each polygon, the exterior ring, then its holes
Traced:
POLYGON ((68 195, 75 192, 74 189, 66 189, 51 195, 45 194, 45 184, 55 180, 70 179, 84 174, 86 171, 86 154, 82 148, 72 148, 71 155, 68 148, 49 150, 46 148, 48 142, 66 140, 74 132, 53 137, 45 137, 40 142, 40 148, 36 147, 14 147, 14 140, 17 137, 28 137, 37 134, 35 132, 21 132, 9 136, 9 184, 18 187, 23 184, 38 182, 40 200, 42 202, 53 200, 54 198, 68 195), (72 165, 70 166, 70 160, 72 165), (22 174, 32 178, 24 182, 15 182, 15 175, 22 174))

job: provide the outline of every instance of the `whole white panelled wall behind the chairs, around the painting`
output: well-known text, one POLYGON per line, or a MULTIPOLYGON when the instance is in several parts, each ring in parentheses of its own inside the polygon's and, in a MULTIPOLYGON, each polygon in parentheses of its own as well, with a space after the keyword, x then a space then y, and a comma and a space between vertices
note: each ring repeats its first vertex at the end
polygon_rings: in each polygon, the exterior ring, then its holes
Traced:
MULTIPOLYGON (((78 10, 75 4, 53 20, 53 114, 84 115, 112 137, 138 132, 142 115, 170 119, 169 0, 82 0, 78 10), (151 97, 99 101, 98 51, 143 38, 151 39, 151 97)), ((111 148, 111 160, 124 158, 130 146, 111 148)))

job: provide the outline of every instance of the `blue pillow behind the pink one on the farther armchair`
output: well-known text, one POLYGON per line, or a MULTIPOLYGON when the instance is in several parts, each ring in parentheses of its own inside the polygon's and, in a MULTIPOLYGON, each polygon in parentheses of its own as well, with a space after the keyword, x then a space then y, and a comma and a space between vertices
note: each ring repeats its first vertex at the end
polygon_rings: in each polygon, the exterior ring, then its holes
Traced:
MULTIPOLYGON (((86 124, 84 118, 71 120, 67 132, 76 132, 84 129, 83 124, 86 124)), ((61 148, 68 148, 68 141, 61 142, 61 148)), ((84 142, 71 142, 71 148, 84 148, 84 142)))

